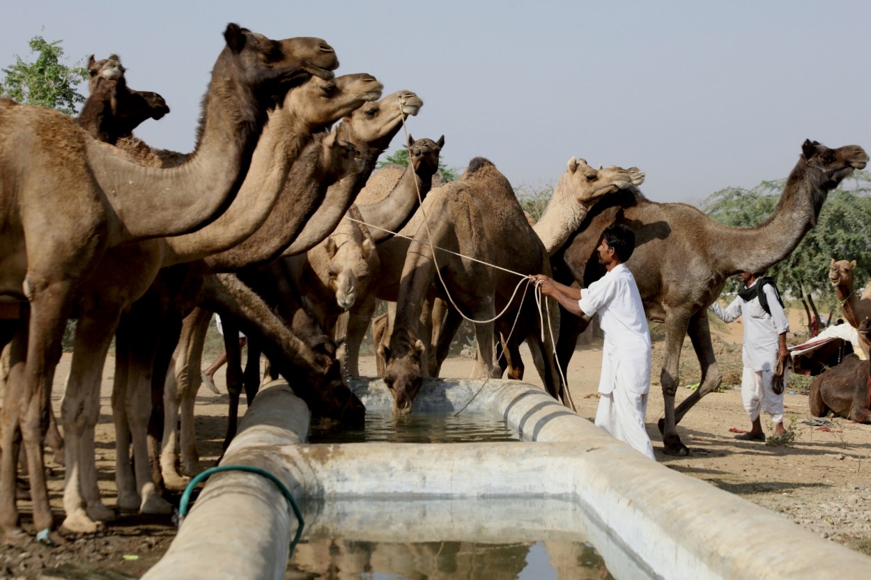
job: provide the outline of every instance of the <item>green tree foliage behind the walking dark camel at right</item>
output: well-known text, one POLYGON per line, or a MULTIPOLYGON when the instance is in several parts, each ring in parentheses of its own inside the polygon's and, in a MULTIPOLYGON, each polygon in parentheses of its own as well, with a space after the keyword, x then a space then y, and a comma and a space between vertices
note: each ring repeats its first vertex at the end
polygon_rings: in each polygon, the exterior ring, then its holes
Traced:
MULTIPOLYGON (((753 189, 726 187, 702 202, 712 219, 726 226, 755 227, 774 212, 786 179, 763 181, 753 189)), ((857 287, 871 278, 871 172, 857 171, 828 194, 817 225, 786 259, 768 270, 781 291, 795 297, 814 295, 834 307, 828 267, 834 260, 856 260, 857 287)), ((737 290, 737 280, 726 286, 737 290)))

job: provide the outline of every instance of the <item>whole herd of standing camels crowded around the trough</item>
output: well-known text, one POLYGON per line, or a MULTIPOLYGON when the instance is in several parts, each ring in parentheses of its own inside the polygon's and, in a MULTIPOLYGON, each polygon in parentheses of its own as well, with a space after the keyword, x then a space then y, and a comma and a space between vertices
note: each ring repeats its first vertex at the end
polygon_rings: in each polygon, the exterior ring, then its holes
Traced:
POLYGON ((98 489, 94 455, 113 336, 117 508, 142 513, 171 512, 160 489, 179 488, 200 470, 193 402, 213 312, 230 337, 227 442, 243 388, 248 401, 256 395, 260 354, 314 414, 360 422, 365 409, 343 376, 358 373, 376 300, 392 303, 377 343, 396 413, 408 413, 422 378, 439 373, 463 318, 476 320, 477 377, 506 368, 522 377, 526 341, 547 391, 571 404, 559 367, 589 320, 517 289, 533 273, 576 284, 598 279, 603 272, 591 257, 615 221, 635 231, 628 266, 648 316, 665 321, 660 429, 665 453, 684 455, 677 423, 722 380, 706 307, 728 276, 759 272, 792 252, 827 192, 868 162, 857 145, 806 141, 774 215, 740 229, 692 206, 645 199, 637 168, 595 169, 571 158, 543 218, 530 225, 508 179, 486 158, 443 182, 443 137, 408 136, 408 167, 374 171, 407 118, 421 111, 414 92, 381 98, 371 75, 335 77, 339 61, 319 38, 276 41, 236 24, 224 38, 190 154, 132 136, 169 107, 157 93, 132 90, 114 55, 91 58, 90 95, 77 119, 0 99, 0 347, 8 361, 0 528, 7 542, 30 538, 16 505, 21 458, 37 537, 61 541, 44 477, 46 441, 63 449, 64 528, 92 532, 116 516, 98 489), (78 324, 61 438, 50 395, 71 317, 78 324), (547 330, 557 317, 554 343, 547 330), (249 337, 244 371, 239 331, 249 337), (701 387, 674 408, 686 334, 701 387), (504 356, 497 359, 496 350, 504 356))

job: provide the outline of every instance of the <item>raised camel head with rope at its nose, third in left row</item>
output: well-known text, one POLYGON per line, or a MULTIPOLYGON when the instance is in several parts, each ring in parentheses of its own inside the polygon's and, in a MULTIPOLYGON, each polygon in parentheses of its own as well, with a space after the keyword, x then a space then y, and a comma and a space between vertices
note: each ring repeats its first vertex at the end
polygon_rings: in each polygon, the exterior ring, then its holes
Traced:
MULTIPOLYGON (((375 103, 367 103, 342 119, 342 136, 355 145, 373 149, 387 149, 396 133, 402 129, 402 121, 408 115, 416 115, 423 101, 411 91, 397 91, 375 103)), ((376 156, 377 157, 377 156, 376 156)))

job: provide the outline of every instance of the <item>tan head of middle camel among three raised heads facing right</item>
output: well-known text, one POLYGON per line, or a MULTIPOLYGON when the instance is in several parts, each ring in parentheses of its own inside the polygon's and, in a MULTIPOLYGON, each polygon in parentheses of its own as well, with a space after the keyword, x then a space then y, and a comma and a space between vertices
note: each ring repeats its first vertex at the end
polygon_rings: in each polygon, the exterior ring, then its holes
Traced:
POLYGON ((287 92, 284 107, 309 132, 326 129, 362 105, 381 98, 384 85, 372 75, 357 73, 334 79, 312 77, 307 83, 287 92))

